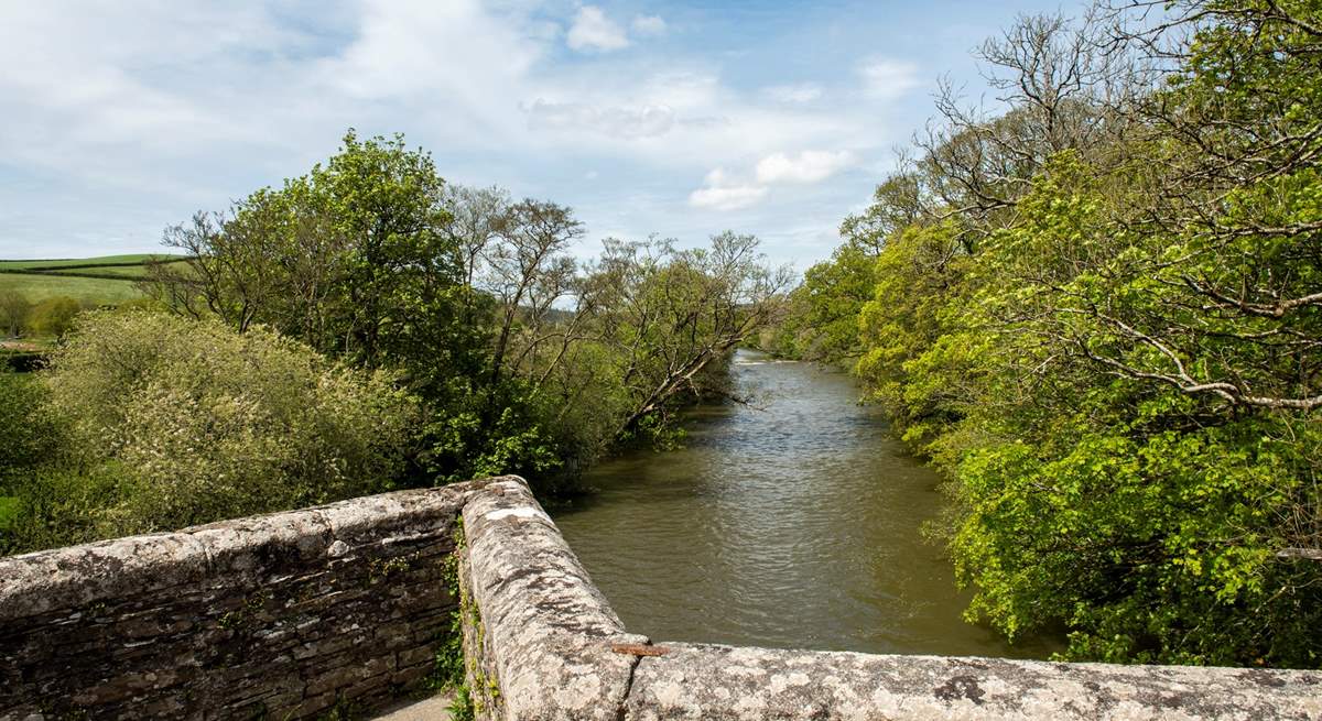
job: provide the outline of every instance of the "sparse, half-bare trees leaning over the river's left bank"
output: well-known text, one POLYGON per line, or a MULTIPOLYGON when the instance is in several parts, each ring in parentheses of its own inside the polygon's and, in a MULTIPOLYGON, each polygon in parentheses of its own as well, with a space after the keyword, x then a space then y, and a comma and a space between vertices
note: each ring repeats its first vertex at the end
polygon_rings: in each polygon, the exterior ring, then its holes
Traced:
POLYGON ((535 213, 553 219, 541 239, 496 234, 469 256, 500 300, 493 368, 428 436, 456 477, 527 469, 554 490, 616 442, 665 442, 678 404, 724 392, 730 354, 767 321, 785 276, 735 234, 687 251, 607 240, 580 271, 563 255, 576 223, 555 207, 535 213))

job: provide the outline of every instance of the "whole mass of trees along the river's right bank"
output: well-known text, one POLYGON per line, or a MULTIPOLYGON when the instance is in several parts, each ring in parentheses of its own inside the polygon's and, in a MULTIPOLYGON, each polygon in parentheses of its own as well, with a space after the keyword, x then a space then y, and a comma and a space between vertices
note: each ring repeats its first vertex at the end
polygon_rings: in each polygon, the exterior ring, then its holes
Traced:
POLYGON ((784 355, 854 364, 944 471, 933 528, 1068 658, 1322 658, 1322 8, 1023 17, 845 221, 784 355))

